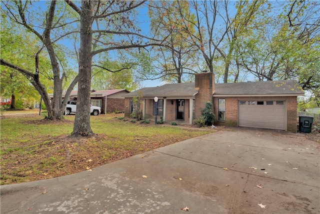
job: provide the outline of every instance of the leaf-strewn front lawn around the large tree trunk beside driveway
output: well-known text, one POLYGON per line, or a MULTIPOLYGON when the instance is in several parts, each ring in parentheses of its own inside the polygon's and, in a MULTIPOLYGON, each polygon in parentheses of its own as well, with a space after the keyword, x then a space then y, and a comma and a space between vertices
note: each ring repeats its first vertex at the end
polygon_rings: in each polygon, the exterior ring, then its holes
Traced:
MULTIPOLYGON (((1 119, 1 184, 46 179, 126 158, 209 132, 211 129, 133 123, 114 115, 91 116, 97 136, 71 138, 74 115, 1 119)), ((145 120, 148 121, 148 120, 145 120)))

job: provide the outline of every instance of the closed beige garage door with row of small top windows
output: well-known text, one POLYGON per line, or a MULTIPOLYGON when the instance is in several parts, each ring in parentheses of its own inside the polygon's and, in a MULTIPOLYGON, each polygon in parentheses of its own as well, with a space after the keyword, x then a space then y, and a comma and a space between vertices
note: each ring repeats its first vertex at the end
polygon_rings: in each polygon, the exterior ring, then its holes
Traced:
POLYGON ((238 125, 285 130, 285 101, 238 101, 238 125))

